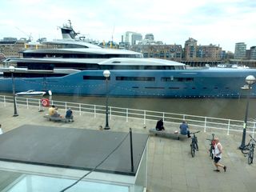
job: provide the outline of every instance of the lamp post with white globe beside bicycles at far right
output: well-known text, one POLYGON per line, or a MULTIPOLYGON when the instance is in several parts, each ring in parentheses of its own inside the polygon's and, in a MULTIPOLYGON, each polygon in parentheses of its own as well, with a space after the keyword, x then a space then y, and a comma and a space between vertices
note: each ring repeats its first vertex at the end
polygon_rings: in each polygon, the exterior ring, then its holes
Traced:
POLYGON ((249 98, 250 98, 250 90, 251 86, 254 85, 256 82, 256 78, 254 75, 248 75, 246 77, 246 86, 243 86, 242 89, 248 90, 247 97, 246 97, 246 115, 245 115, 245 122, 243 123, 243 130, 242 130, 242 142, 239 146, 239 149, 241 150, 246 143, 246 127, 247 127, 247 118, 248 118, 248 110, 249 110, 249 98))

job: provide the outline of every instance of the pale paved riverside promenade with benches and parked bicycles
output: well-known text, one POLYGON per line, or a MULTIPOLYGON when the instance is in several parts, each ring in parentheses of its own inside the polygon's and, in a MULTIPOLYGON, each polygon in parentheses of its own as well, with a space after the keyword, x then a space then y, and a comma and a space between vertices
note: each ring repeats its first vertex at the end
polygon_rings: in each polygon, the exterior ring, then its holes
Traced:
MULTIPOLYGON (((101 130, 105 126, 105 115, 74 112, 74 122, 50 122, 43 115, 47 109, 38 112, 38 107, 18 105, 18 117, 13 117, 14 106, 0 102, 0 123, 3 134, 25 124, 57 127, 74 127, 80 129, 92 129, 99 131, 123 131, 129 129, 136 133, 148 134, 150 128, 154 128, 156 121, 146 121, 146 127, 142 120, 134 119, 126 122, 126 118, 112 117, 109 120, 110 130, 101 130)), ((65 114, 64 110, 59 110, 65 114)), ((166 125, 167 130, 178 130, 177 127, 166 125)), ((256 190, 256 159, 254 164, 248 165, 247 158, 243 156, 238 146, 241 143, 242 132, 230 132, 214 130, 216 137, 220 138, 224 153, 222 163, 227 166, 226 172, 214 172, 214 165, 209 155, 209 141, 212 132, 206 132, 202 128, 191 127, 191 130, 201 130, 198 136, 199 151, 195 157, 190 154, 190 139, 178 141, 170 138, 150 136, 147 164, 147 191, 148 192, 252 192, 256 190)), ((209 131, 209 130, 208 130, 209 131)), ((249 136, 246 137, 247 142, 249 136)), ((20 174, 0 170, 0 191, 20 174)))

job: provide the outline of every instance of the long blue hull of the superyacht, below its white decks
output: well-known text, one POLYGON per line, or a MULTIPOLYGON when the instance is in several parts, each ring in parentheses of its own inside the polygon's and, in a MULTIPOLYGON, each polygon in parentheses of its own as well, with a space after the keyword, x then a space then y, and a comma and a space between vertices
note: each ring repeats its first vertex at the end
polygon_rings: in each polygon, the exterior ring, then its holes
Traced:
MULTIPOLYGON (((116 97, 238 98, 253 69, 110 70, 107 93, 116 97)), ((15 91, 51 90, 53 94, 106 95, 103 70, 82 70, 56 78, 14 78, 15 91)), ((11 78, 0 80, 0 91, 11 92, 11 78)), ((254 86, 250 92, 256 95, 254 86)))

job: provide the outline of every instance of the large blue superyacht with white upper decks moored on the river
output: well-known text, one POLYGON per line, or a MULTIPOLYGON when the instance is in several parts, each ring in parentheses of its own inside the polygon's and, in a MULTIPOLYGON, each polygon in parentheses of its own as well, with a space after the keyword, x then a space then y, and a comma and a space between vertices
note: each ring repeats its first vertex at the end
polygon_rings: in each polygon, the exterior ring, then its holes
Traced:
MULTIPOLYGON (((77 35, 71 24, 63 26, 61 41, 42 42, 43 49, 6 59, 0 69, 0 91, 12 91, 13 74, 16 92, 106 95, 103 71, 110 70, 107 94, 116 97, 238 98, 248 94, 241 88, 246 77, 256 76, 256 70, 247 68, 186 69, 183 63, 102 48, 77 35)), ((254 87, 251 94, 255 96, 254 87)))

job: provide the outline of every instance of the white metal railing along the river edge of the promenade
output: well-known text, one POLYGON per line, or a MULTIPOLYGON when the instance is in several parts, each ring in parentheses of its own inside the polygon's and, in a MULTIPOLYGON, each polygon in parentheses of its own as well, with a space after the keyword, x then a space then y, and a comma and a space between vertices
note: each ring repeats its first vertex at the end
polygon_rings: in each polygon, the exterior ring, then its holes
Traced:
MULTIPOLYGON (((3 102, 4 106, 6 103, 12 103, 13 97, 0 95, 0 102, 3 102)), ((39 109, 42 108, 41 100, 38 98, 23 98, 16 97, 17 106, 22 105, 26 106, 28 109, 30 106, 37 106, 39 109)), ((72 110, 78 112, 80 115, 82 113, 94 114, 96 118, 97 114, 105 114, 106 106, 98 106, 77 102, 62 102, 62 101, 50 101, 50 105, 58 106, 59 109, 67 110, 71 107, 72 110)), ((148 120, 155 120, 162 118, 164 122, 170 122, 174 124, 180 124, 183 120, 186 120, 190 126, 200 127, 204 132, 210 129, 215 130, 225 130, 226 134, 229 135, 230 131, 242 131, 243 121, 234 120, 234 119, 225 119, 225 118, 210 118, 203 116, 196 116, 190 114, 174 114, 166 113, 159 111, 151 110, 136 110, 128 109, 121 107, 109 106, 110 119, 112 116, 118 116, 126 119, 126 122, 129 122, 129 119, 136 118, 142 120, 143 124, 146 124, 148 120)), ((250 120, 247 122, 247 132, 254 136, 256 120, 250 120)))

